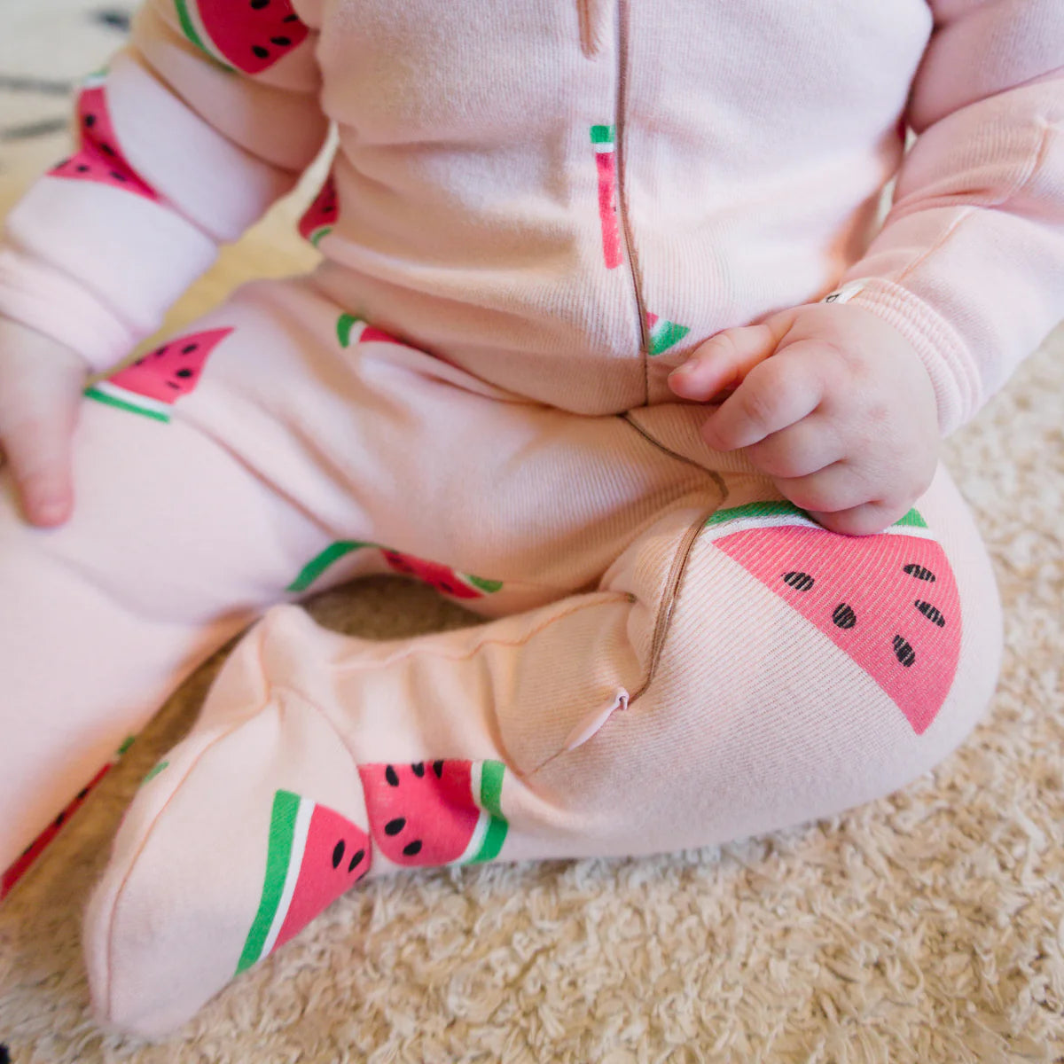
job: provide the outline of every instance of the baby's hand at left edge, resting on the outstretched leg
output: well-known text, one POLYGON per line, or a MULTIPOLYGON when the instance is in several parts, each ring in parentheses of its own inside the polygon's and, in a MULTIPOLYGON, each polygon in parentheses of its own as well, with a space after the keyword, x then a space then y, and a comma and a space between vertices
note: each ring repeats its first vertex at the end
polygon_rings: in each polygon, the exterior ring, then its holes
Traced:
POLYGON ((0 463, 34 525, 62 525, 73 508, 70 442, 86 376, 80 354, 0 318, 0 463))

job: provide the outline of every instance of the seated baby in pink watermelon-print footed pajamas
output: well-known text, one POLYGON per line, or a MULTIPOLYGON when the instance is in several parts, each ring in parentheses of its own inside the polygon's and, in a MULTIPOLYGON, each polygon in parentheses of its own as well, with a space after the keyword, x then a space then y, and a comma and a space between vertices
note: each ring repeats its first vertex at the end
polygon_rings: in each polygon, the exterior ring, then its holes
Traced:
POLYGON ((94 891, 101 1021, 368 877, 719 843, 962 742, 1000 617, 936 443, 1064 314, 1062 64, 1059 0, 150 0, 0 254, 0 867, 265 617, 94 891), (330 122, 321 264, 114 370, 330 122), (294 604, 392 570, 488 622, 294 604))

